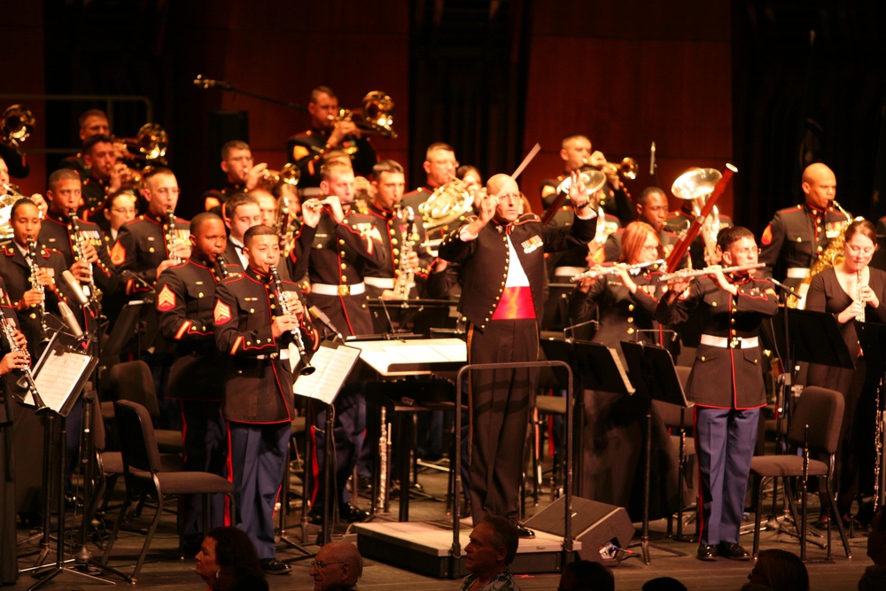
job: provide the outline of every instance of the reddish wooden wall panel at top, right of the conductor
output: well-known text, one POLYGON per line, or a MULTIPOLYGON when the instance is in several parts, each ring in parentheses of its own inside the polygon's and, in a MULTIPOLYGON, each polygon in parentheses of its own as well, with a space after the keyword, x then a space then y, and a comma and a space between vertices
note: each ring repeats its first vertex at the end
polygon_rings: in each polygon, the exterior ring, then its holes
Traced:
MULTIPOLYGON (((533 206, 540 182, 562 170, 560 140, 571 133, 586 134, 610 161, 637 159, 641 173, 626 182, 633 195, 654 184, 652 141, 665 188, 689 166, 722 169, 733 144, 728 30, 727 5, 571 0, 556 12, 537 9, 524 147, 540 142, 542 152, 522 183, 533 206), (652 13, 637 12, 639 4, 652 13)), ((731 191, 720 203, 731 211, 731 191)))

